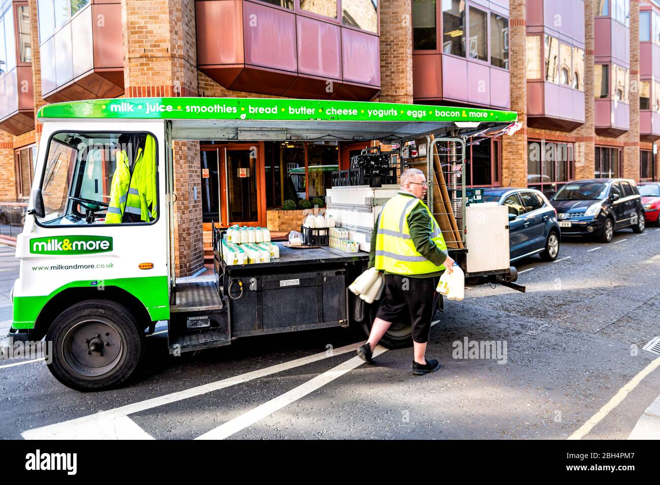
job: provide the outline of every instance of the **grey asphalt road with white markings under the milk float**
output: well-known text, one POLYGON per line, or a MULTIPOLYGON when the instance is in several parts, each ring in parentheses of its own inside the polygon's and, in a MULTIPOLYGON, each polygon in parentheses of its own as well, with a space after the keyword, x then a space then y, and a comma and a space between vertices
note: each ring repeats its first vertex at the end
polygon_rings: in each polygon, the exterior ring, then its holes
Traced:
POLYGON ((411 375, 411 349, 362 364, 351 329, 180 357, 160 333, 138 379, 113 391, 79 393, 43 362, 1 361, 0 437, 565 439, 597 416, 586 438, 626 439, 660 393, 657 368, 624 389, 658 358, 642 346, 660 335, 660 230, 564 240, 557 262, 517 266, 526 294, 482 285, 446 302, 427 352, 443 367, 429 375, 411 375), (501 352, 457 355, 465 339, 501 352))

